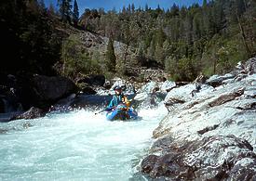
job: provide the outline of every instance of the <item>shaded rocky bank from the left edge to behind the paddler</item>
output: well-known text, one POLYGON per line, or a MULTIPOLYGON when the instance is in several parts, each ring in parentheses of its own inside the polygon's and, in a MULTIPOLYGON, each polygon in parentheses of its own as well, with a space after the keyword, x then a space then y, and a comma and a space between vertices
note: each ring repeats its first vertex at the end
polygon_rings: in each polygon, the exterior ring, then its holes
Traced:
POLYGON ((133 79, 106 80, 104 75, 84 76, 75 83, 61 76, 38 74, 7 74, 1 79, 0 122, 34 119, 56 110, 104 107, 115 94, 115 85, 122 85, 129 98, 142 85, 133 79))

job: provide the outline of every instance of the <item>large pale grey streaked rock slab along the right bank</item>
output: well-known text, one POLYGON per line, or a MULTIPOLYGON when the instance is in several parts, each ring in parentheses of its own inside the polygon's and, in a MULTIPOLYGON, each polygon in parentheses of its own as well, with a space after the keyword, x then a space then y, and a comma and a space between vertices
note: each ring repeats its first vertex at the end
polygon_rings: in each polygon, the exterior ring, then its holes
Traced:
POLYGON ((159 180, 256 180, 256 74, 223 80, 203 84, 196 97, 193 84, 168 92, 165 102, 173 104, 153 132, 142 173, 159 180))

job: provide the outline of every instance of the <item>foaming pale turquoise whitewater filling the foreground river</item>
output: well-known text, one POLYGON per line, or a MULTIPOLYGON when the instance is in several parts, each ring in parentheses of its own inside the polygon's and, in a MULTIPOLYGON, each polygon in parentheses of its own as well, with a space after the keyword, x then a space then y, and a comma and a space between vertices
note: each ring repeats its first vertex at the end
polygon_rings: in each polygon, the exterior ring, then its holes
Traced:
POLYGON ((167 110, 138 113, 133 122, 76 110, 0 123, 0 180, 138 180, 138 165, 167 110))

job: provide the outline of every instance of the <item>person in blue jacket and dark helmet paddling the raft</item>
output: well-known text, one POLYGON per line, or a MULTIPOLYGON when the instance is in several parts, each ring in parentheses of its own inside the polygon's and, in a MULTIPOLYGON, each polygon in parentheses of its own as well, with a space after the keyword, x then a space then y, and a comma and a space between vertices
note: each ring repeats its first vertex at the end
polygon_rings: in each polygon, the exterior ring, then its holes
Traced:
POLYGON ((115 86, 114 90, 115 90, 115 95, 113 96, 113 98, 110 101, 110 103, 109 103, 107 108, 110 109, 110 110, 114 109, 120 103, 123 103, 125 106, 129 107, 130 106, 130 102, 128 101, 128 97, 126 97, 123 94, 122 87, 117 85, 117 86, 115 86))

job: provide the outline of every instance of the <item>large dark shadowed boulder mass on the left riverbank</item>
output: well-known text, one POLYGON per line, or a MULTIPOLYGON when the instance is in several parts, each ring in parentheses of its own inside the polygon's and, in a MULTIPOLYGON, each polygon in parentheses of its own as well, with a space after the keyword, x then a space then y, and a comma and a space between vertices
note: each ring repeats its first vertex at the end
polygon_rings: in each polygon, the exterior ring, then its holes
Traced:
POLYGON ((37 111, 31 108, 36 107, 45 112, 61 98, 75 94, 78 90, 70 79, 61 76, 49 77, 24 73, 17 76, 9 74, 3 76, 2 79, 3 82, 0 83, 0 122, 44 116, 45 113, 38 113, 41 110, 37 111), (34 113, 22 115, 27 110, 34 113))

